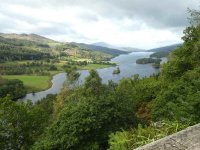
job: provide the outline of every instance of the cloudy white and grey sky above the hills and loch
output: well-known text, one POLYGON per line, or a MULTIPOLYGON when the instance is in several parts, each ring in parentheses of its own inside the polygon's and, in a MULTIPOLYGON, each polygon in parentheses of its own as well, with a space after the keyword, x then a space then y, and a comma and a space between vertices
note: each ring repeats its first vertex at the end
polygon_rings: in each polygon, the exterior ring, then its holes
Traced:
POLYGON ((199 0, 0 0, 1 33, 151 49, 180 43, 199 0))

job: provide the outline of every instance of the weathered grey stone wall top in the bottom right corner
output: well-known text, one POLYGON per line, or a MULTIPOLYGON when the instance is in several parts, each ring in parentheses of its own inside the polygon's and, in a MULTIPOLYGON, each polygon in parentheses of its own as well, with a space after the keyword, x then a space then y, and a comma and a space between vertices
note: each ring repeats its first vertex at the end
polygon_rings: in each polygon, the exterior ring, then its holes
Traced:
POLYGON ((200 124, 135 150, 200 150, 200 124))

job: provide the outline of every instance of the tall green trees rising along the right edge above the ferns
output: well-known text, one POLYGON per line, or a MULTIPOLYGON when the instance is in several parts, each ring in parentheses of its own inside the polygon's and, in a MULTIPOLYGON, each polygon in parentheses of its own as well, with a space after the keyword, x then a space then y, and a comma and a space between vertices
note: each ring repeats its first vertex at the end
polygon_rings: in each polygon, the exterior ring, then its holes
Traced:
POLYGON ((184 43, 163 66, 162 89, 153 101, 154 120, 169 119, 191 124, 200 121, 200 25, 184 31, 184 43))

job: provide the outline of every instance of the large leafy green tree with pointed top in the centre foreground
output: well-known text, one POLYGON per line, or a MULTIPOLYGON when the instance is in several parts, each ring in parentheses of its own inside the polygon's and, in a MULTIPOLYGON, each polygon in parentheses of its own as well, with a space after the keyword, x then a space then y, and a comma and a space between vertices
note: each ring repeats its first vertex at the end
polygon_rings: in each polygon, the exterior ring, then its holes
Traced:
MULTIPOLYGON (((108 136, 137 122, 133 103, 116 97, 94 70, 67 103, 34 149, 105 149, 108 136)), ((114 87, 114 86, 112 86, 114 87)))

